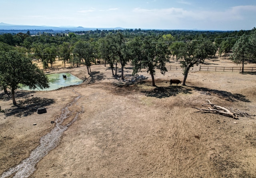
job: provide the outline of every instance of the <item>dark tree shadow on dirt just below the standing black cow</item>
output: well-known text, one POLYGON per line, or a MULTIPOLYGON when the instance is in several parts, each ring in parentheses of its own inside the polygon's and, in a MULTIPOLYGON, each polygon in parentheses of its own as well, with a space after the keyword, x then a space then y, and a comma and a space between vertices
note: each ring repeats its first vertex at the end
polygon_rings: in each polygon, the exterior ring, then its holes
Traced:
POLYGON ((156 87, 151 91, 141 91, 145 93, 147 97, 156 97, 156 98, 166 98, 171 96, 176 96, 179 93, 191 94, 192 89, 188 89, 182 86, 172 86, 172 87, 156 87))

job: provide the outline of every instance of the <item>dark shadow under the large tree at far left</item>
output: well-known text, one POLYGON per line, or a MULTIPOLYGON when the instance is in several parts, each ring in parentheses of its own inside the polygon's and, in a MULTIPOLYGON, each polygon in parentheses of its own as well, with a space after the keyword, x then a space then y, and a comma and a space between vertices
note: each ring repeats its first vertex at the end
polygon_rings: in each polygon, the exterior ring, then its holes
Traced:
POLYGON ((32 115, 40 107, 46 107, 55 103, 54 99, 33 97, 28 98, 22 101, 18 101, 16 106, 11 107, 10 109, 5 110, 5 116, 17 116, 17 117, 26 117, 32 115))

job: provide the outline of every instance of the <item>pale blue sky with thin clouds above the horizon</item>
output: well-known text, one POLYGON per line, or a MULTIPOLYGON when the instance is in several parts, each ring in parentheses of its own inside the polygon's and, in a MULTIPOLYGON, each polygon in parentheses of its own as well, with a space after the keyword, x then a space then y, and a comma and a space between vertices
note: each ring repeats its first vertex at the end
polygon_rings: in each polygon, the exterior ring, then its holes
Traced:
POLYGON ((256 0, 0 0, 0 22, 85 28, 251 30, 256 0))

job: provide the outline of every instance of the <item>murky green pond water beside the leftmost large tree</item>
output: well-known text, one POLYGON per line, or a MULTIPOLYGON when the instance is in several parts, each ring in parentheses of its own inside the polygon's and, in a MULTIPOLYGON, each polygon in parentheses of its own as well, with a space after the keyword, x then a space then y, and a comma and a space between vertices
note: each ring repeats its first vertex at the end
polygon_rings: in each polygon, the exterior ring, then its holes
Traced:
POLYGON ((33 91, 50 91, 50 90, 56 90, 61 87, 67 87, 70 85, 79 85, 83 81, 78 79, 76 76, 70 74, 70 73, 54 73, 54 74, 48 74, 46 75, 50 81, 49 88, 46 89, 29 89, 28 87, 22 87, 23 90, 33 90, 33 91), (64 78, 63 75, 66 75, 67 78, 64 78))

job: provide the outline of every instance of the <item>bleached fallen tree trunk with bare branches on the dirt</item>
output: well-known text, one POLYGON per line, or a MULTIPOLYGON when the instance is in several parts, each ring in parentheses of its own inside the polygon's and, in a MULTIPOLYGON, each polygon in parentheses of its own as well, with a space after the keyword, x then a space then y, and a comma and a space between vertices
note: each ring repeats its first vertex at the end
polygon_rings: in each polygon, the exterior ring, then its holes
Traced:
POLYGON ((208 103, 202 104, 202 106, 211 105, 212 108, 211 107, 208 107, 208 109, 200 109, 200 108, 196 108, 196 107, 193 107, 193 108, 198 109, 199 111, 204 111, 204 112, 216 113, 216 114, 229 116, 229 117, 232 117, 234 119, 238 119, 238 116, 243 116, 243 117, 255 116, 255 115, 250 115, 250 114, 245 113, 245 112, 241 112, 241 111, 239 111, 239 109, 233 109, 233 108, 226 108, 226 107, 218 106, 214 103, 211 103, 210 100, 208 100, 208 99, 206 101, 208 103))

